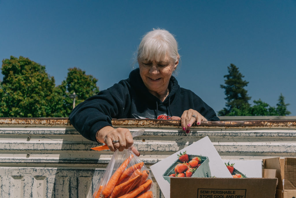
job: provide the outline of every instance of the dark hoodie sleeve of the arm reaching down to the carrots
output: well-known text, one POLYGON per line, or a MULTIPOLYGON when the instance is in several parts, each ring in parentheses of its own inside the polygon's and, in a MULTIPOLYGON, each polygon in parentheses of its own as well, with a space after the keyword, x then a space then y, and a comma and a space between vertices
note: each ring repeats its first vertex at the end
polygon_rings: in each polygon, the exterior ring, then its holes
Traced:
POLYGON ((128 88, 115 84, 98 95, 78 104, 69 115, 71 124, 85 138, 96 141, 96 133, 105 126, 112 126, 112 118, 118 118, 128 109, 128 88))

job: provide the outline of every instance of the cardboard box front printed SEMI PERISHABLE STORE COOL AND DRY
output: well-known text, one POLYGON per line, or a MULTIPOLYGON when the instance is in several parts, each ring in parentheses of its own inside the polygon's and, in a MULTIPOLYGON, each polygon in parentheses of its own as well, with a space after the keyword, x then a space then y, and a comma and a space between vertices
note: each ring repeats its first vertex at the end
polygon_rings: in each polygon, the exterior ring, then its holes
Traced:
POLYGON ((274 198, 276 178, 171 178, 170 197, 274 198))

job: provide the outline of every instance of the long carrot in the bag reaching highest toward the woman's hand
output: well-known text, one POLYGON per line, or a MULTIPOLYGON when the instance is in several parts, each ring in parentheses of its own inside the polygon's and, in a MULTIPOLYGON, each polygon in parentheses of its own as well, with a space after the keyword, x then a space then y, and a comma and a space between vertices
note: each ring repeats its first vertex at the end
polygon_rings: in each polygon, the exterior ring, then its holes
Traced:
POLYGON ((131 159, 133 158, 133 154, 131 156, 129 156, 121 165, 120 167, 114 172, 114 174, 111 176, 111 178, 109 179, 106 187, 104 188, 104 190, 102 191, 102 194, 104 195, 104 197, 108 197, 114 187, 115 184, 117 183, 118 179, 120 178, 120 175, 123 173, 123 171, 126 169, 126 167, 128 166, 128 163, 131 161, 131 159))

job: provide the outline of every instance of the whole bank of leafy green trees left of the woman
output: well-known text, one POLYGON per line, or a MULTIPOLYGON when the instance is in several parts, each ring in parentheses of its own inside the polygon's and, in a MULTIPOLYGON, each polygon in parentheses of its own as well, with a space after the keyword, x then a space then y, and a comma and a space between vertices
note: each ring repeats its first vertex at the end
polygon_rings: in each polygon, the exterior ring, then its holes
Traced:
POLYGON ((99 92, 97 80, 79 68, 68 69, 67 79, 55 86, 42 66, 20 56, 2 61, 0 82, 0 117, 68 117, 76 104, 99 92))

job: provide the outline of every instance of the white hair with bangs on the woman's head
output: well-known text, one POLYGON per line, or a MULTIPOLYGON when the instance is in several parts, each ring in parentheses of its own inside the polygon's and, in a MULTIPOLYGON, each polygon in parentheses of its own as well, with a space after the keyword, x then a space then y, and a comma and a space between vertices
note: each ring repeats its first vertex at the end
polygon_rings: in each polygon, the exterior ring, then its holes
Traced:
POLYGON ((174 36, 165 29, 154 29, 147 32, 139 45, 137 59, 162 61, 166 56, 176 62, 180 58, 178 44, 174 36))

